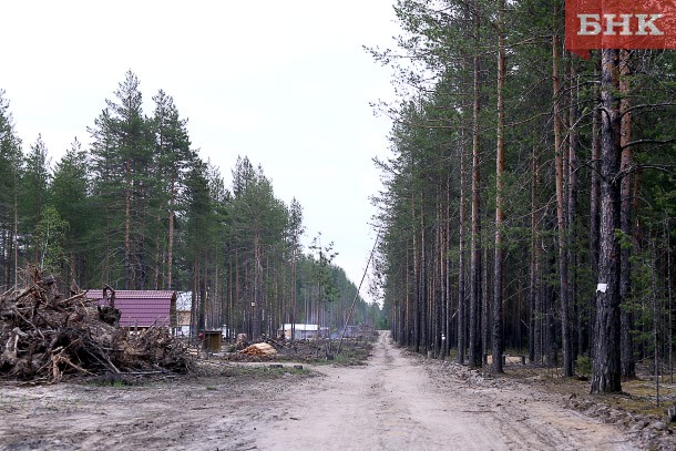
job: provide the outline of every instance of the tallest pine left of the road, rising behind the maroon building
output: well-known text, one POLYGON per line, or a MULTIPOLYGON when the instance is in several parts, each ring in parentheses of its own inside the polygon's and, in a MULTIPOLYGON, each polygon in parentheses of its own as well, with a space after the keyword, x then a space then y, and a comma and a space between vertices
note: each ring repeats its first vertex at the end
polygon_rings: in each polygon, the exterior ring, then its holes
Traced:
POLYGON ((155 245, 148 233, 155 217, 154 147, 134 73, 126 73, 115 98, 116 101, 106 100, 107 107, 90 129, 94 195, 101 212, 102 277, 104 280, 122 278, 126 289, 137 289, 148 283, 155 245))

